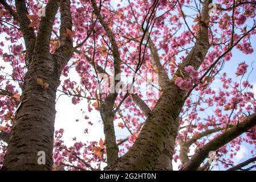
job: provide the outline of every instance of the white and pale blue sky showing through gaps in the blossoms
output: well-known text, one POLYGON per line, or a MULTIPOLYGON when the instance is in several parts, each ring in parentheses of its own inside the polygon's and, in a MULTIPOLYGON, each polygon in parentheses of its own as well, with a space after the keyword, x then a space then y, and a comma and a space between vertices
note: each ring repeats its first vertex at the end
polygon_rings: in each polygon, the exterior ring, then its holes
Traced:
MULTIPOLYGON (((112 6, 114 8, 117 7, 117 3, 121 3, 120 0, 112 0, 112 6)), ((1 40, 4 38, 4 36, 0 37, 1 40)), ((251 39, 251 43, 253 44, 253 48, 256 49, 256 36, 253 36, 251 39)), ((254 50, 256 51, 256 50, 254 50)), ((225 63, 225 72, 235 77, 235 70, 237 69, 237 66, 242 61, 246 60, 246 63, 248 65, 251 65, 253 61, 255 61, 254 65, 254 71, 251 73, 251 76, 249 77, 249 82, 253 82, 254 85, 254 94, 256 95, 256 54, 255 52, 251 55, 245 55, 240 51, 233 51, 233 57, 230 61, 227 61, 225 63)), ((0 58, 1 59, 1 58, 0 58)), ((6 70, 8 72, 11 71, 10 65, 5 63, 3 60, 0 60, 1 64, 6 67, 6 70)), ((79 75, 76 73, 74 69, 71 69, 70 71, 70 80, 79 80, 79 75)), ((64 80, 64 77, 60 78, 60 80, 64 80)), ((79 82, 79 81, 78 81, 79 82)), ((213 85, 214 86, 214 85, 213 85)), ((218 87, 218 83, 216 83, 216 88, 218 87)), ((100 138, 104 139, 104 133, 103 133, 103 125, 101 125, 101 117, 98 111, 92 110, 91 113, 87 111, 87 100, 83 99, 80 101, 79 104, 74 105, 72 104, 72 97, 68 97, 66 95, 61 95, 62 93, 58 92, 57 97, 58 100, 56 100, 56 119, 55 119, 55 130, 64 129, 63 139, 67 146, 71 146, 75 141, 73 138, 76 138, 76 141, 82 141, 86 142, 87 140, 91 141, 99 141, 100 138), (81 109, 84 111, 84 114, 82 113, 81 109), (89 115, 90 119, 84 119, 84 115, 89 115), (89 125, 88 121, 91 121, 93 125, 89 125), (84 129, 88 128, 88 134, 84 134, 84 129)), ((115 121, 115 126, 117 126, 117 123, 120 122, 118 119, 115 121)), ((121 129, 120 127, 115 127, 116 132, 116 138, 125 138, 127 135, 129 135, 129 132, 127 129, 121 129)), ((237 155, 234 157, 235 163, 240 163, 243 160, 246 160, 250 157, 250 150, 251 147, 248 144, 242 144, 241 150, 237 153, 237 155)), ((178 169, 178 166, 180 165, 180 162, 174 163, 173 162, 173 168, 178 169)), ((104 167, 104 166, 103 166, 104 167)), ((214 167, 214 169, 219 169, 218 167, 214 167)), ((223 168, 220 168, 223 169, 223 168)))

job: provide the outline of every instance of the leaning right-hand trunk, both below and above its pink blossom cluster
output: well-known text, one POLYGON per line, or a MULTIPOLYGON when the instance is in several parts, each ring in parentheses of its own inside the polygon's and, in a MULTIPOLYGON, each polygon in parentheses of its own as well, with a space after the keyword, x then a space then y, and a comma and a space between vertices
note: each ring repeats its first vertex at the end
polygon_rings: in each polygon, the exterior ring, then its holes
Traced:
MULTIPOLYGON (((204 61, 205 55, 210 47, 208 40, 208 5, 212 1, 206 1, 202 8, 200 20, 200 32, 192 51, 186 56, 181 64, 181 71, 188 65, 198 69, 204 61)), ((145 125, 139 137, 131 149, 121 158, 109 164, 106 170, 153 170, 158 162, 164 144, 169 136, 176 134, 172 131, 176 125, 176 118, 184 104, 186 92, 174 84, 174 81, 165 82, 162 95, 157 101, 155 108, 149 113, 145 125)))

